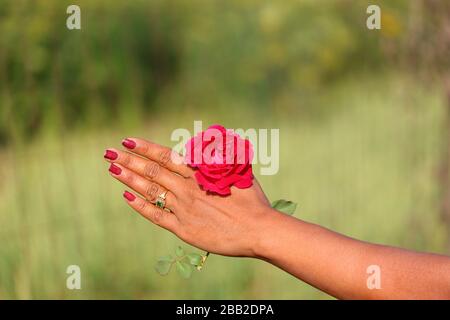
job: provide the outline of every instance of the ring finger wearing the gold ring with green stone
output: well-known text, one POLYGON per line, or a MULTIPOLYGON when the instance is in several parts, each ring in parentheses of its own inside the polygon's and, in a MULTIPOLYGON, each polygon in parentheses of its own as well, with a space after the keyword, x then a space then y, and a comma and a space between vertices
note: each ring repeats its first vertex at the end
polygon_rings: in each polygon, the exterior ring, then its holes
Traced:
MULTIPOLYGON (((150 202, 155 202, 160 194, 167 191, 167 189, 159 184, 148 181, 137 173, 117 164, 111 164, 109 172, 114 178, 141 194, 150 202)), ((176 201, 176 197, 170 191, 167 192, 165 200, 166 208, 174 211, 176 201)))

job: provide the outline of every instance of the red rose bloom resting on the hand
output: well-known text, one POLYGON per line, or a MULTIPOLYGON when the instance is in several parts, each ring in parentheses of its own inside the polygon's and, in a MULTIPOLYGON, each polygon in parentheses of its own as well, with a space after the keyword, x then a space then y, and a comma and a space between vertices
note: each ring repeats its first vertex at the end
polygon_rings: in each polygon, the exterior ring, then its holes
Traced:
POLYGON ((253 184, 253 148, 233 130, 214 125, 186 143, 186 163, 197 169, 195 179, 206 191, 229 195, 230 187, 253 184))

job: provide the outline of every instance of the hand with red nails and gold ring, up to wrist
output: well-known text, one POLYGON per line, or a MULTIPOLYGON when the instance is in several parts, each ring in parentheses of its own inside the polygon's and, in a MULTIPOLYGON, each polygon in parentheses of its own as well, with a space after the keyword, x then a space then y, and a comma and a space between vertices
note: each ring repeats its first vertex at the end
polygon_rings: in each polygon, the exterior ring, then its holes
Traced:
POLYGON ((132 153, 108 149, 105 158, 112 163, 111 175, 142 196, 125 192, 133 209, 202 250, 256 255, 263 221, 273 212, 256 179, 250 188, 232 187, 227 197, 207 194, 195 181, 194 170, 169 148, 136 138, 123 144, 132 153), (154 205, 165 191, 165 207, 171 212, 154 205))

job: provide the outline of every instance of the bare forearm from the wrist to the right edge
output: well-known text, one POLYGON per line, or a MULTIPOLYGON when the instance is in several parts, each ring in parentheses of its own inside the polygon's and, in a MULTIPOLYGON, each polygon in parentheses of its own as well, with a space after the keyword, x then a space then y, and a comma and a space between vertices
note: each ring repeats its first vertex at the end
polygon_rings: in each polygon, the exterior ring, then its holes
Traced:
POLYGON ((450 299, 450 258, 374 245, 269 211, 256 255, 343 299, 450 299), (369 266, 381 288, 369 289, 369 266))

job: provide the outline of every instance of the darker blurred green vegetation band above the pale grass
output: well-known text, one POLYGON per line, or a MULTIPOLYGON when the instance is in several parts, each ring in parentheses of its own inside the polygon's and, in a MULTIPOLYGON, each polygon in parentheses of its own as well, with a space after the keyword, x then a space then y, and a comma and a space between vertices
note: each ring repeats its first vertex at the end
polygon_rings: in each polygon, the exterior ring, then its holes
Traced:
POLYGON ((71 3, 0 1, 1 144, 142 119, 167 87, 199 107, 205 93, 292 105, 382 67, 407 1, 383 2, 382 32, 365 28, 366 1, 81 0, 81 31, 65 28, 71 3))

